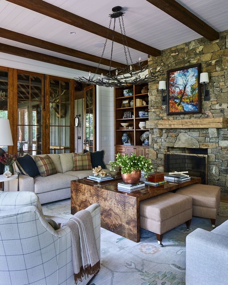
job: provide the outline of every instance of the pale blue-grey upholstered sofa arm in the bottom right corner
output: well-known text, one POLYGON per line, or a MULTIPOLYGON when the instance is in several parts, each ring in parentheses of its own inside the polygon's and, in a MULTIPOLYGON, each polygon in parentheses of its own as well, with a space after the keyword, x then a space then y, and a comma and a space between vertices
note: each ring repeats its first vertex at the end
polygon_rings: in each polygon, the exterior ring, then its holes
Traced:
POLYGON ((202 229, 186 238, 186 285, 226 284, 228 239, 202 229))

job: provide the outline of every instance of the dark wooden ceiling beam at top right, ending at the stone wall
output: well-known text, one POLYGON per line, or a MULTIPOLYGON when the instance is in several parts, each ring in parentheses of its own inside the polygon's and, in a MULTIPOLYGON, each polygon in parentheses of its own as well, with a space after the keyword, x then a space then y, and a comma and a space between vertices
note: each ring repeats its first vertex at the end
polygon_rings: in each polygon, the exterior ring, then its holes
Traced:
POLYGON ((175 0, 147 0, 166 14, 210 41, 219 39, 219 33, 175 0))

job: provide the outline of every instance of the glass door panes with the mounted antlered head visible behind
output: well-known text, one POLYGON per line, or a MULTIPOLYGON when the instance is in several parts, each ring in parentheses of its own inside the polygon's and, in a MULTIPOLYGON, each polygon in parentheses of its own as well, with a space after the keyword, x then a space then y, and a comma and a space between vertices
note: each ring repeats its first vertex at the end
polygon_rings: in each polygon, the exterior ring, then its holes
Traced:
POLYGON ((70 81, 50 78, 50 153, 70 152, 70 81))

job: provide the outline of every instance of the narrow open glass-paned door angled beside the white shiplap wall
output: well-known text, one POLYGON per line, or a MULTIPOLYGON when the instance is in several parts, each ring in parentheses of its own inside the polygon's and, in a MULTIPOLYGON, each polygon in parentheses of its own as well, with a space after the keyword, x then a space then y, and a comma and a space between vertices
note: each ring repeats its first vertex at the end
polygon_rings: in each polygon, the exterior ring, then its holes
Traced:
POLYGON ((95 86, 90 85, 84 89, 85 96, 85 149, 96 150, 95 136, 95 86))

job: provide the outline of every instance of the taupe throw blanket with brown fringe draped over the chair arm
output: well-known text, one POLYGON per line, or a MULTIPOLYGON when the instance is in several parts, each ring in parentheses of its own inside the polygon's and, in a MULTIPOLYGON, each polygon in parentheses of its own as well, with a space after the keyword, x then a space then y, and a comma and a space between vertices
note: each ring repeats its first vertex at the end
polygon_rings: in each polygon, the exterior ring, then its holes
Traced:
POLYGON ((72 261, 75 284, 82 277, 100 270, 100 258, 96 247, 92 217, 89 211, 81 210, 66 223, 71 230, 72 261))

